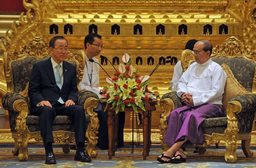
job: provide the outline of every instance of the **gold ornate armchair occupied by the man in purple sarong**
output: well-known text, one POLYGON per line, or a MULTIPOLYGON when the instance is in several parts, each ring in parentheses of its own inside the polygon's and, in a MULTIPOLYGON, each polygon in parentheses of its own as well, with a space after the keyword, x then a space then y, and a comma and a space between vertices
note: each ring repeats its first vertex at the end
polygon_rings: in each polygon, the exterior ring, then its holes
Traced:
MULTIPOLYGON (((223 103, 226 115, 207 118, 201 123, 200 126, 205 137, 205 142, 201 147, 223 140, 227 162, 235 162, 237 159, 235 154, 237 140, 241 140, 244 155, 252 156, 249 145, 256 110, 255 56, 255 50, 249 50, 234 36, 212 49, 211 59, 222 65, 227 73, 227 82, 223 93, 223 100, 226 101, 223 103)), ((182 67, 186 69, 193 59, 193 55, 187 51, 181 57, 182 67)), ((167 127, 166 117, 170 111, 182 105, 176 92, 169 92, 161 97, 160 106, 164 111, 160 117, 160 140, 164 150, 169 147, 162 142, 167 127)))

